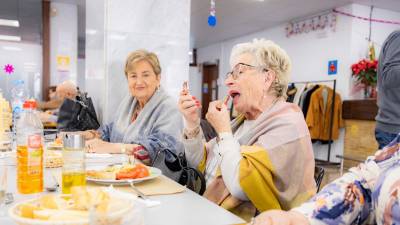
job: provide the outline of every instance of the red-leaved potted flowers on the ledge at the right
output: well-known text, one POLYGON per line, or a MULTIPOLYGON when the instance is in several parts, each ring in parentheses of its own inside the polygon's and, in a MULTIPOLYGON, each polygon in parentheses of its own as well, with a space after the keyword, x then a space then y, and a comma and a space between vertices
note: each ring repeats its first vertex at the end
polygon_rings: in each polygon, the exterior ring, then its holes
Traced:
POLYGON ((377 82, 378 60, 362 59, 351 66, 353 77, 365 86, 375 86, 377 82))

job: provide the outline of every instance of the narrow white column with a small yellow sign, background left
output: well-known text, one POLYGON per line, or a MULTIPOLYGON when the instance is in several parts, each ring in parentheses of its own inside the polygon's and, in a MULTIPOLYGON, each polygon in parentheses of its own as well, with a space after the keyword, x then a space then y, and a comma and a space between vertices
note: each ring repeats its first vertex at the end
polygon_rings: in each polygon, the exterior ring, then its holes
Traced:
POLYGON ((65 80, 77 82, 78 60, 77 5, 51 2, 50 5, 50 85, 65 80), (67 71, 57 68, 57 56, 68 56, 67 71))

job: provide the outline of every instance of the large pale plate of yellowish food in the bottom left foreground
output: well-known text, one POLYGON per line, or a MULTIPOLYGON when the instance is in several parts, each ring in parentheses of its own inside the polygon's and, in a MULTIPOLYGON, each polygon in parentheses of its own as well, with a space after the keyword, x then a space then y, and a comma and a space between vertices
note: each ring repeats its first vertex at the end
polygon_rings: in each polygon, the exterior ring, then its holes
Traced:
POLYGON ((112 188, 74 187, 68 195, 47 194, 19 202, 8 213, 24 225, 122 224, 137 214, 136 198, 112 188))

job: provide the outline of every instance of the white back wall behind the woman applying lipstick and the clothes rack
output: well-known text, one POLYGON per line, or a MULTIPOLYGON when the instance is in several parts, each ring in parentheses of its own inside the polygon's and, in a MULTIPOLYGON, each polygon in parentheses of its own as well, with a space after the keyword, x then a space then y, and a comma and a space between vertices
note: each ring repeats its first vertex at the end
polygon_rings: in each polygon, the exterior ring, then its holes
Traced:
MULTIPOLYGON (((347 5, 339 8, 341 11, 356 14, 363 17, 369 17, 369 7, 358 4, 347 5)), ((387 20, 400 20, 400 13, 382 9, 374 9, 374 18, 387 20)), ((352 78, 350 66, 358 59, 365 57, 367 53, 368 42, 365 37, 368 36, 368 22, 353 19, 351 17, 338 15, 336 32, 330 30, 310 32, 286 37, 286 24, 276 26, 264 31, 226 40, 211 46, 199 48, 198 63, 220 60, 219 68, 219 96, 224 96, 226 87, 223 85, 223 75, 230 70, 229 56, 232 47, 241 42, 248 42, 254 38, 270 39, 280 45, 287 51, 292 59, 292 78, 291 81, 310 81, 310 80, 337 80, 337 91, 342 100, 356 98, 350 95, 352 87, 352 78), (328 61, 338 60, 338 73, 329 76, 328 61)), ((386 36, 398 29, 399 26, 373 23, 372 40, 375 41, 377 54, 380 45, 386 36)), ((193 74, 191 76, 194 76, 193 74)), ((191 84, 193 86, 198 84, 191 84)), ((336 155, 343 154, 344 131, 341 131, 340 138, 332 144, 331 161, 337 161, 336 155)), ((314 153, 316 158, 327 159, 327 145, 314 144, 314 153)))

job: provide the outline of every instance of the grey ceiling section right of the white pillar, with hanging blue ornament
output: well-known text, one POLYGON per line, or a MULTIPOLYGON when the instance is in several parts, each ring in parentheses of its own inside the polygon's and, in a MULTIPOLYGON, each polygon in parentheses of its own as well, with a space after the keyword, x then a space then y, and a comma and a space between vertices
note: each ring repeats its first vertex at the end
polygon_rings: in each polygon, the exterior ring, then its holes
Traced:
POLYGON ((209 0, 192 0, 191 46, 204 47, 349 3, 400 11, 400 0, 215 0, 217 26, 209 27, 209 0))

